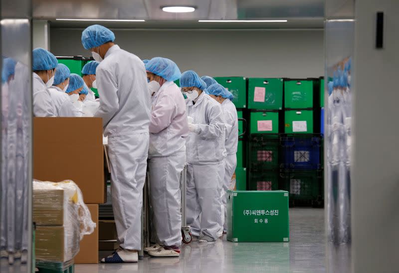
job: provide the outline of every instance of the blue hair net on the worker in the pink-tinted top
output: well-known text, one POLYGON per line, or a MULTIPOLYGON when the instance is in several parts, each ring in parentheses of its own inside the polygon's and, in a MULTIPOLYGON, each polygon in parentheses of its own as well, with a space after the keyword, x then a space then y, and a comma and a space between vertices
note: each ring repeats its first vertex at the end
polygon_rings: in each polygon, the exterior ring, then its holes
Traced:
POLYGON ((162 57, 152 58, 146 64, 146 70, 171 82, 180 79, 182 76, 179 67, 174 61, 162 57))

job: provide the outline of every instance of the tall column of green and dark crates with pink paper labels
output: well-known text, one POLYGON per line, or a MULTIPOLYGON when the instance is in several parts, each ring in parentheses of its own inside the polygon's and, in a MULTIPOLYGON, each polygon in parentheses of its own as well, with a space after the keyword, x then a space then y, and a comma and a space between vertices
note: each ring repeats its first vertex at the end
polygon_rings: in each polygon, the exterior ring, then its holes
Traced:
POLYGON ((283 79, 248 79, 248 190, 279 189, 283 79))

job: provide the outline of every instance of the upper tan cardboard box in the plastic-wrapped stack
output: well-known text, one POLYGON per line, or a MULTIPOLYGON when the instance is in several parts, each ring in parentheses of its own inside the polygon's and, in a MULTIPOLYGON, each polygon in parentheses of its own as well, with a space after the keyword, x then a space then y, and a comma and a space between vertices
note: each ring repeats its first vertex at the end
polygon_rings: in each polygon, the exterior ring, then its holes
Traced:
POLYGON ((37 226, 62 226, 66 222, 63 190, 33 190, 33 222, 37 226))

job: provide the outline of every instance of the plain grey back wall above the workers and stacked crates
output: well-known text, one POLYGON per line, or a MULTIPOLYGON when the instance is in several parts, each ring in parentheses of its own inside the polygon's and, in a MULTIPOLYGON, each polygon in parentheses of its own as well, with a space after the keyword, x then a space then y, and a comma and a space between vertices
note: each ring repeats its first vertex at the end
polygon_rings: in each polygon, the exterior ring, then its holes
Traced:
MULTIPOLYGON (((200 75, 319 77, 323 30, 115 30, 116 43, 142 59, 163 56, 200 75)), ((51 28, 56 56, 88 56, 82 29, 51 28)))

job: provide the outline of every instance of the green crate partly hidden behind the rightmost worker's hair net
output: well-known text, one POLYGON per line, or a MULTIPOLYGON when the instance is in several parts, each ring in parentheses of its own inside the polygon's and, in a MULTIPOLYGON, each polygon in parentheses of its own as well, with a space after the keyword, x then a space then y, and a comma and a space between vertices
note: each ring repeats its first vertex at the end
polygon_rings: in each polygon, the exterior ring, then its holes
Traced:
POLYGON ((234 95, 235 108, 246 108, 246 78, 214 77, 214 79, 234 95))

